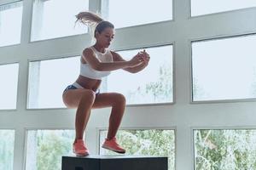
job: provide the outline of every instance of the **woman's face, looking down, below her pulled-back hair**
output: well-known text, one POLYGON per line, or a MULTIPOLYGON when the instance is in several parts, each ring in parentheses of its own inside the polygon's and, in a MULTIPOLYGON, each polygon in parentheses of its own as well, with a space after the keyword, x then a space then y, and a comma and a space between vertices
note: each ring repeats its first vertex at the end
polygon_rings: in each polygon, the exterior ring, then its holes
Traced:
POLYGON ((105 28, 101 33, 96 32, 96 41, 104 48, 108 48, 110 43, 113 40, 114 29, 113 28, 105 28))

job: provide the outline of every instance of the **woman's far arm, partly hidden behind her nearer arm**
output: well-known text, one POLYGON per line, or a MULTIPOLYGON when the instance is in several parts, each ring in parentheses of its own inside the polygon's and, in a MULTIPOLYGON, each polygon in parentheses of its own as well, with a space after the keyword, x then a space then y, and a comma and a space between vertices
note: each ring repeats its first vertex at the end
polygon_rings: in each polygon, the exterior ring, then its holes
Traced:
MULTIPOLYGON (((114 60, 116 60, 116 61, 125 61, 125 59, 123 59, 119 54, 117 54, 115 52, 111 52, 111 53, 113 55, 114 60)), ((141 59, 141 60, 143 60, 143 59, 141 59)), ((139 65, 126 67, 126 68, 124 68, 124 70, 128 71, 128 72, 131 72, 131 73, 137 73, 139 71, 142 71, 148 65, 148 61, 149 61, 149 57, 147 56, 147 57, 145 57, 143 62, 141 62, 139 65)))

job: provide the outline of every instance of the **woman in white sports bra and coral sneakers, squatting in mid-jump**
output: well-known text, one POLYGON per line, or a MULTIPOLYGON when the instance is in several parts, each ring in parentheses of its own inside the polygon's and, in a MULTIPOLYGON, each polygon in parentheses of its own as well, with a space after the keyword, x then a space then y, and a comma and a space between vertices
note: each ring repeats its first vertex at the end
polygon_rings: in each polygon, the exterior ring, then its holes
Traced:
POLYGON ((123 69, 131 73, 142 71, 149 61, 149 55, 139 52, 131 60, 126 61, 119 54, 108 49, 113 40, 114 26, 90 12, 81 12, 77 19, 89 25, 95 24, 94 37, 96 43, 84 48, 81 56, 80 75, 76 82, 67 86, 63 92, 63 102, 68 108, 77 108, 75 119, 76 137, 73 152, 77 156, 88 156, 89 150, 83 140, 84 129, 90 117, 90 110, 112 107, 109 117, 108 137, 102 147, 118 153, 125 153, 116 141, 115 135, 125 111, 125 96, 117 93, 100 93, 98 88, 102 77, 107 77, 111 71, 123 69))

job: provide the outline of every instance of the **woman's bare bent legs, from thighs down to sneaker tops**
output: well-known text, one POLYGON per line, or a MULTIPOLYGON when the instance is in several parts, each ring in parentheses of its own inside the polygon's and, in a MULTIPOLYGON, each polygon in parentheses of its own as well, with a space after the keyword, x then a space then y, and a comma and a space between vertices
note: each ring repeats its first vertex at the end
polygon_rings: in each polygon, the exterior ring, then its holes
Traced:
POLYGON ((91 108, 108 106, 112 107, 109 117, 108 139, 112 139, 116 135, 125 111, 125 96, 123 94, 103 93, 96 95, 90 89, 72 89, 63 94, 63 101, 69 108, 78 108, 76 113, 76 139, 83 139, 91 108))

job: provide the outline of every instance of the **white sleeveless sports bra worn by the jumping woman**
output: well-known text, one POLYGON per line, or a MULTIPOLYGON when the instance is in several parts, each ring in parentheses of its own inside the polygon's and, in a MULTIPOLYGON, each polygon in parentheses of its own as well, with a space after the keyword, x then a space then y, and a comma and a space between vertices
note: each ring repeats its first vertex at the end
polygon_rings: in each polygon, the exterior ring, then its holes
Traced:
MULTIPOLYGON (((96 58, 99 59, 102 63, 108 63, 113 62, 113 56, 110 52, 110 50, 106 49, 105 53, 102 54, 101 52, 98 52, 96 48, 90 47, 94 54, 96 55, 96 58)), ((97 79, 101 80, 102 77, 107 77, 111 71, 96 71, 93 68, 90 67, 89 64, 83 64, 81 62, 80 64, 80 75, 83 77, 89 77, 91 79, 97 79)))

